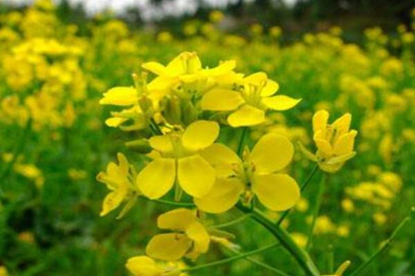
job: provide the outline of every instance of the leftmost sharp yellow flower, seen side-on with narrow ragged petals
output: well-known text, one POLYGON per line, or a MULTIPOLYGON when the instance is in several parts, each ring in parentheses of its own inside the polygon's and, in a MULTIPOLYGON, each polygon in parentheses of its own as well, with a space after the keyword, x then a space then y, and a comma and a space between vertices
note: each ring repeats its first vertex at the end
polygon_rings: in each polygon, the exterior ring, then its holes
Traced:
POLYGON ((97 180, 106 184, 107 188, 111 190, 102 202, 101 217, 118 208, 122 201, 131 197, 133 192, 129 178, 128 160, 122 153, 118 153, 117 157, 118 166, 111 162, 108 164, 106 172, 100 172, 97 175, 97 180))

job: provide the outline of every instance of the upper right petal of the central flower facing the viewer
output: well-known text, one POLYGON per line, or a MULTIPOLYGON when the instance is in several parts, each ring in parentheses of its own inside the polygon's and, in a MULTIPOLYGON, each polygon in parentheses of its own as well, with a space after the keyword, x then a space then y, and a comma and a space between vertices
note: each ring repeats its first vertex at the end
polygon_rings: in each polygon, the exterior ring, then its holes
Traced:
POLYGON ((201 150, 212 145, 219 136, 219 124, 215 121, 195 121, 187 126, 182 143, 188 150, 201 150))

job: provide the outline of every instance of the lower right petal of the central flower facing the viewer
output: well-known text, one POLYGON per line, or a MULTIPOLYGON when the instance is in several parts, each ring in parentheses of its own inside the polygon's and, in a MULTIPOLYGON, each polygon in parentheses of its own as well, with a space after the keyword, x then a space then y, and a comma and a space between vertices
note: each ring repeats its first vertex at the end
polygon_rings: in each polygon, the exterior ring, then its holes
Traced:
POLYGON ((215 177, 214 168, 200 155, 178 159, 178 184, 193 197, 207 195, 214 184, 215 177))

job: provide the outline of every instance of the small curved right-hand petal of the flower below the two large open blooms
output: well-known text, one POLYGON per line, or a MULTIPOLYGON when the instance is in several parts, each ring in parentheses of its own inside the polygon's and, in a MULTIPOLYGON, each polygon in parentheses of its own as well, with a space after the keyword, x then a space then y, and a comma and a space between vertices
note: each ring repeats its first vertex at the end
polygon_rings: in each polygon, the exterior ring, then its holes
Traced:
POLYGON ((198 221, 190 224, 186 228, 186 235, 194 242, 192 251, 189 255, 192 259, 199 257, 201 253, 206 253, 209 250, 210 237, 205 227, 198 221))

